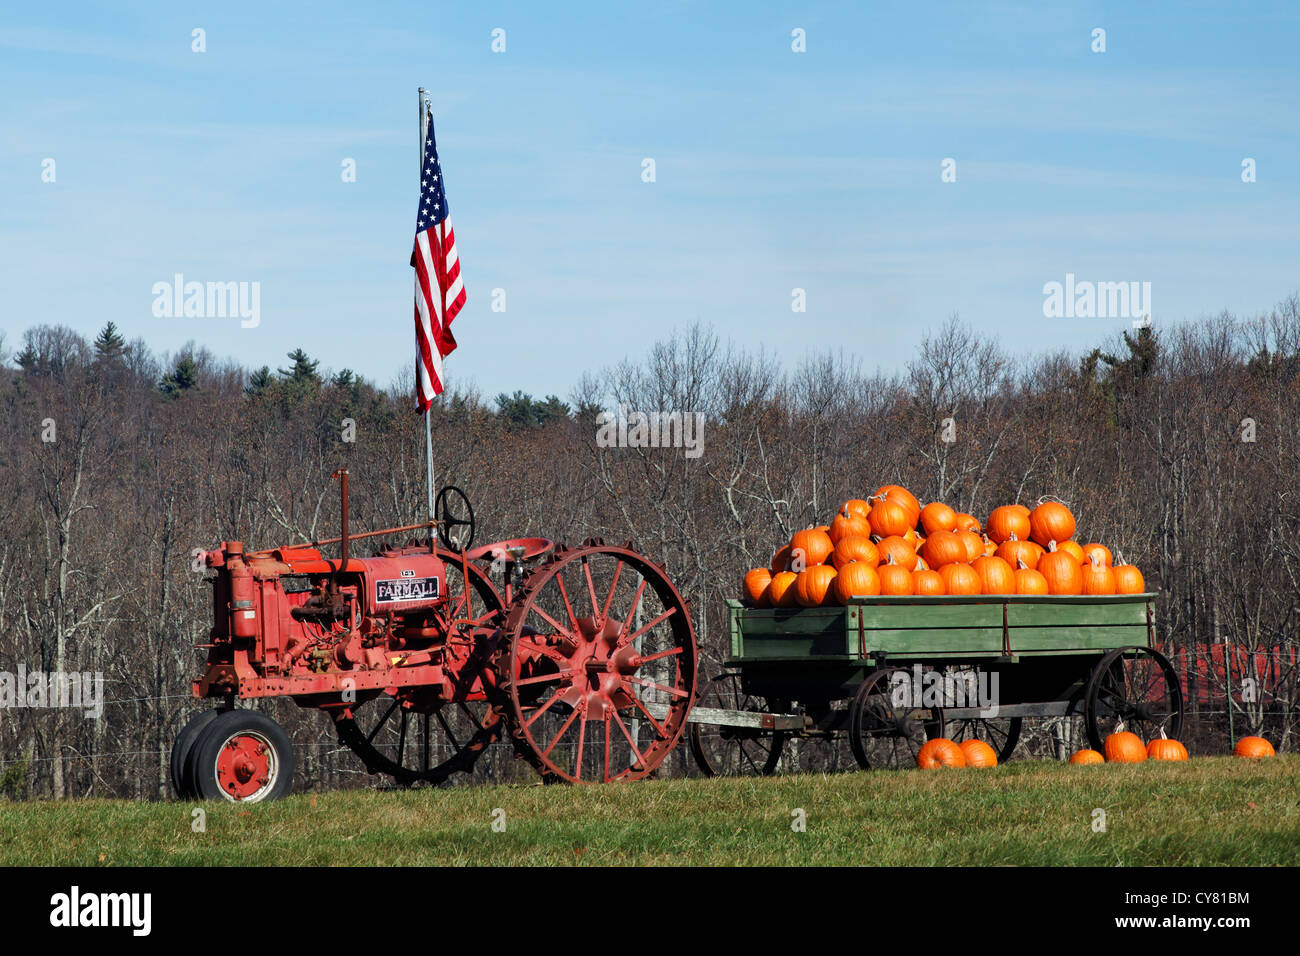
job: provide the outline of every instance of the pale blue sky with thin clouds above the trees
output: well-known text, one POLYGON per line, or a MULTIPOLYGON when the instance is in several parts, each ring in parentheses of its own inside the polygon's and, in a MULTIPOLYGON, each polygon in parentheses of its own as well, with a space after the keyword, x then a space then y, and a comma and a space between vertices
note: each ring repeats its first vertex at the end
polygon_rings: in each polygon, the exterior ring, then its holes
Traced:
POLYGON ((568 395, 696 320, 887 371, 953 312, 1020 354, 1130 325, 1044 319, 1066 273, 1149 281, 1157 325, 1254 315, 1300 289, 1297 40, 1294 4, 10 7, 0 330, 389 384, 421 85, 469 291, 448 378, 489 395, 568 395), (261 324, 155 317, 178 272, 260 282, 261 324))

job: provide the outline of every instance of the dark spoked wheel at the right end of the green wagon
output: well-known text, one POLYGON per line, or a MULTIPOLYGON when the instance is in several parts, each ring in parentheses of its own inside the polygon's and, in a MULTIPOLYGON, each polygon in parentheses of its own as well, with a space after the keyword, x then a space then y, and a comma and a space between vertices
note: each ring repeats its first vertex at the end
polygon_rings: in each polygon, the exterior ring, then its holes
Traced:
POLYGON ((1084 701, 1088 743, 1097 750, 1122 722, 1143 740, 1178 739, 1183 727, 1183 688, 1178 672, 1158 650, 1115 648, 1097 662, 1084 701))

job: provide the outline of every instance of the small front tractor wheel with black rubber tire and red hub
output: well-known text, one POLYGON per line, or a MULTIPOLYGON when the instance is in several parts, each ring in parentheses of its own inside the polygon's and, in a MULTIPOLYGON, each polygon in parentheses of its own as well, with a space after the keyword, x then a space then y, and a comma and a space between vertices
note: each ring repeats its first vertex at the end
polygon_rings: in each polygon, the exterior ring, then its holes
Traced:
POLYGON ((294 745, 265 714, 226 710, 199 732, 186 773, 203 800, 278 800, 294 786, 294 745))

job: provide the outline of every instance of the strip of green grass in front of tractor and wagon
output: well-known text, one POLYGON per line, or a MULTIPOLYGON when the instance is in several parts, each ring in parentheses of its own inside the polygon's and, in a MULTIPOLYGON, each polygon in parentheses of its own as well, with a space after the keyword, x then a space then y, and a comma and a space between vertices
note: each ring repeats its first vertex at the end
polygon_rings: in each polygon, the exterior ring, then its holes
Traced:
POLYGON ((0 864, 1296 865, 1300 757, 0 804, 0 864))

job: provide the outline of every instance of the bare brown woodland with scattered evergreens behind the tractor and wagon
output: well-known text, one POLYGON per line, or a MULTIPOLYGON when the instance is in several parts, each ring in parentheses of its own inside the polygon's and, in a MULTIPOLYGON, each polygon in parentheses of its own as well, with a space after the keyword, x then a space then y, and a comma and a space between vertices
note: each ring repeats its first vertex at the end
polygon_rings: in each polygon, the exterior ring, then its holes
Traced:
MULTIPOLYGON (((0 711, 12 796, 166 792, 172 736, 211 623, 191 551, 328 537, 330 475, 351 472, 352 527, 422 519, 424 436, 407 380, 378 388, 304 351, 244 369, 207 350, 157 356, 109 324, 0 339, 0 671, 101 671, 103 719, 0 711)), ((432 424, 438 483, 465 489, 478 541, 633 540, 690 598, 705 672, 725 656, 724 601, 777 544, 880 484, 984 518, 1066 501, 1079 536, 1161 592, 1158 632, 1209 661, 1238 654, 1238 734, 1292 748, 1300 596, 1300 299, 1269 315, 1136 329, 1087 355, 1009 354, 953 320, 894 375, 840 352, 784 369, 696 326, 585 376, 568 402, 448 392, 432 424), (604 447, 601 410, 697 412, 703 454, 604 447), (1271 661, 1257 693, 1242 676, 1271 661)), ((1222 745, 1219 666, 1193 684, 1184 736, 1222 745)), ((268 708, 302 783, 368 782, 328 721, 268 708)), ((500 754, 491 758, 506 760, 500 754)), ((675 760, 680 770, 684 760, 675 760)))

